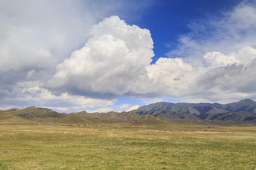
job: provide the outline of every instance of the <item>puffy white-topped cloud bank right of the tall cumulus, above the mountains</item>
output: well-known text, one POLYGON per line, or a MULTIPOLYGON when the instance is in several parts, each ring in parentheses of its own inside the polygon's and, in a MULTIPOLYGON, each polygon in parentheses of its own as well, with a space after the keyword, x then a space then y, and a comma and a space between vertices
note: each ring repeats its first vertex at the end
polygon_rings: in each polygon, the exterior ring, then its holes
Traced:
POLYGON ((182 58, 160 58, 147 67, 155 84, 168 88, 158 89, 161 95, 192 102, 229 102, 256 98, 256 49, 244 47, 225 55, 208 52, 204 66, 193 67, 182 58))

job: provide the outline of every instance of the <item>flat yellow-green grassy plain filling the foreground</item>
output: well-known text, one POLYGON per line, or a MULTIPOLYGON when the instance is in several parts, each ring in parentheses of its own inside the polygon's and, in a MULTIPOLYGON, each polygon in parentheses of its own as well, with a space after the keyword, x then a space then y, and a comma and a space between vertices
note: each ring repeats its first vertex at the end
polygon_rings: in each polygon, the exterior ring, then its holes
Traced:
POLYGON ((0 125, 0 170, 256 170, 256 127, 0 125))

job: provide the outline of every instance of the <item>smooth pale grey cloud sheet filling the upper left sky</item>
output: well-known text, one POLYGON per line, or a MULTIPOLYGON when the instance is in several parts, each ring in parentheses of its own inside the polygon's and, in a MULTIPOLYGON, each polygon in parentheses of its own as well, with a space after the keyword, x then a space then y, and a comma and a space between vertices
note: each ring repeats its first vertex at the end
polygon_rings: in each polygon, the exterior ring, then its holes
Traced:
POLYGON ((84 42, 86 30, 104 13, 90 17, 88 9, 81 1, 0 1, 2 98, 17 95, 18 82, 45 82, 52 76, 59 60, 84 42), (82 5, 83 12, 77 11, 82 5))

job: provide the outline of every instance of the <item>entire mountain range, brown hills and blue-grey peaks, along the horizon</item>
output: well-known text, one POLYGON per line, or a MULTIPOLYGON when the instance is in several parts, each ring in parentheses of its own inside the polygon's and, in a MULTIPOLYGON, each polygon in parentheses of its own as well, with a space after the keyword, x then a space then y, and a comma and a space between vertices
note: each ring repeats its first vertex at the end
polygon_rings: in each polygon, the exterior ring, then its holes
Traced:
POLYGON ((107 113, 81 111, 66 114, 35 106, 26 109, 0 110, 0 124, 13 122, 168 124, 179 119, 256 125, 256 102, 250 99, 229 104, 156 102, 129 112, 107 113))

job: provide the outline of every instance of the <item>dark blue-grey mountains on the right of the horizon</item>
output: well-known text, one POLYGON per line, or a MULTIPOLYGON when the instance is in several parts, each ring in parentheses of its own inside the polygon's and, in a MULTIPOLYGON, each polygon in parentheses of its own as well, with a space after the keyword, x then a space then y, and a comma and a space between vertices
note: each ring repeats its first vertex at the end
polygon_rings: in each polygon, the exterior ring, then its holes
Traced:
POLYGON ((220 120, 256 124, 256 102, 246 99, 229 104, 156 102, 130 112, 185 120, 220 120))

